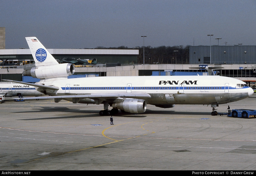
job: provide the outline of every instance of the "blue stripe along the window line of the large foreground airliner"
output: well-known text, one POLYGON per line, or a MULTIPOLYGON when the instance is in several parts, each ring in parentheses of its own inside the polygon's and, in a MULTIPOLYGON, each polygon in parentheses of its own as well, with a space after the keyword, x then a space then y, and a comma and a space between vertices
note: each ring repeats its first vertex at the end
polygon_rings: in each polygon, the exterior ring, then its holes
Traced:
POLYGON ((62 90, 225 90, 225 89, 246 89, 247 86, 242 88, 228 87, 228 86, 211 86, 211 87, 198 87, 198 86, 184 86, 184 87, 61 87, 62 90))

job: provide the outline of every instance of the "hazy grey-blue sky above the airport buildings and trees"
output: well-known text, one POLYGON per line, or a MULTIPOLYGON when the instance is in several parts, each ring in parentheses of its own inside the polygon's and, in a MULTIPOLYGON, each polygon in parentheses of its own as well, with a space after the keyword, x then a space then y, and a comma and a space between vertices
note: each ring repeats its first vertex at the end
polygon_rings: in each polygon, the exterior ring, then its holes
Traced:
POLYGON ((256 45, 255 0, 1 0, 6 49, 256 45))

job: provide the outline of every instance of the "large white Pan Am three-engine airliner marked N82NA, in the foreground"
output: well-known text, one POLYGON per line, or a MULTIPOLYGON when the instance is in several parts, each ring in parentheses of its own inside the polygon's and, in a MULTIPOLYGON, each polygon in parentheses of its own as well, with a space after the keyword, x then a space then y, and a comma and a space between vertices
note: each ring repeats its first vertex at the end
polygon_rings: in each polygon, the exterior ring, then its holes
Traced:
MULTIPOLYGON (((36 37, 26 37, 35 64, 24 68, 25 76, 40 78, 35 86, 55 102, 104 104, 100 115, 110 115, 118 109, 143 113, 147 104, 172 108, 175 104, 211 105, 212 115, 219 104, 249 97, 253 90, 243 81, 222 76, 123 76, 72 78, 74 65, 59 64, 36 37), (113 109, 108 110, 111 106, 113 109)), ((18 82, 18 81, 14 81, 18 82)), ((24 83, 25 84, 25 83, 24 83)), ((24 98, 31 99, 31 98, 24 98)))

